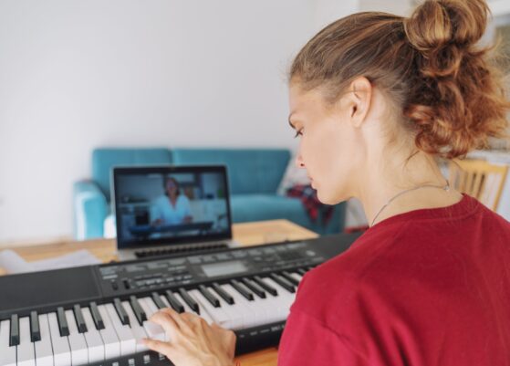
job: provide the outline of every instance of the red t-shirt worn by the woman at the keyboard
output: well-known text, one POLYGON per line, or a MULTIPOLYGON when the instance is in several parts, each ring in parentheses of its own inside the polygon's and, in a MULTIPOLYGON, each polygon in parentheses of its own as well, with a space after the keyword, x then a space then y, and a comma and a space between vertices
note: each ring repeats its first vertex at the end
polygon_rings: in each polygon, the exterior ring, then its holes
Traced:
POLYGON ((510 365, 510 223, 464 194, 372 226, 303 278, 278 365, 510 365))

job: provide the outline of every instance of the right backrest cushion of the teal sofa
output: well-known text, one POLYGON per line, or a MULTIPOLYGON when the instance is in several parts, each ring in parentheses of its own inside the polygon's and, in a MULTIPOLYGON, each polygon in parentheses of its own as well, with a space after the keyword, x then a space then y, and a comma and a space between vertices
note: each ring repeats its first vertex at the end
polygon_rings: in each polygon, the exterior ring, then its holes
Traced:
POLYGON ((225 164, 231 194, 276 193, 289 159, 285 149, 172 149, 175 164, 225 164))

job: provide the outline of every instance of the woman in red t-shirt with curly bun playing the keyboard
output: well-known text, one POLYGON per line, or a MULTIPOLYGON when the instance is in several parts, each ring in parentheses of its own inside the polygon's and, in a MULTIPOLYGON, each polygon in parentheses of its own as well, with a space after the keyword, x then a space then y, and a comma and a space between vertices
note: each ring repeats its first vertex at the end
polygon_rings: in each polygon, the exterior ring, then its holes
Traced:
MULTIPOLYGON (((505 132, 509 103, 476 47, 487 14, 483 0, 359 13, 297 55, 297 163, 322 202, 358 197, 370 227, 301 281, 279 365, 510 365, 510 224, 436 163, 505 132)), ((148 346, 177 366, 233 364, 232 333, 172 310, 153 321, 172 343, 148 346)))

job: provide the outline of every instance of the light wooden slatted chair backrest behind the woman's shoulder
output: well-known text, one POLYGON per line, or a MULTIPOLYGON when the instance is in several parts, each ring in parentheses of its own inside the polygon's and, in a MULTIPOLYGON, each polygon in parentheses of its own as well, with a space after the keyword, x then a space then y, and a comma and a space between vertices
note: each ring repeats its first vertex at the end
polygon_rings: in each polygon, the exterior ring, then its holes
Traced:
POLYGON ((505 185, 507 165, 483 160, 455 160, 450 162, 450 183, 492 210, 497 209, 505 185))

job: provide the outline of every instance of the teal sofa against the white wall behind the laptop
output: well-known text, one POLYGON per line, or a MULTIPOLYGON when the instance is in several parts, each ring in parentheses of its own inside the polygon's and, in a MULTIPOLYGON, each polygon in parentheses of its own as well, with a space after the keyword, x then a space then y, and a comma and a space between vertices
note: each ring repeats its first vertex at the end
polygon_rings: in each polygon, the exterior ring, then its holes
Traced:
POLYGON ((276 193, 290 157, 284 149, 96 149, 91 179, 73 187, 75 238, 103 237, 104 221, 111 211, 111 168, 148 164, 226 165, 234 223, 285 218, 321 235, 341 232, 345 204, 337 204, 328 224, 323 225, 309 219, 298 198, 276 193))

